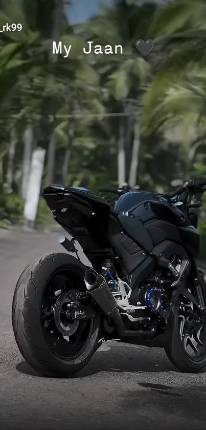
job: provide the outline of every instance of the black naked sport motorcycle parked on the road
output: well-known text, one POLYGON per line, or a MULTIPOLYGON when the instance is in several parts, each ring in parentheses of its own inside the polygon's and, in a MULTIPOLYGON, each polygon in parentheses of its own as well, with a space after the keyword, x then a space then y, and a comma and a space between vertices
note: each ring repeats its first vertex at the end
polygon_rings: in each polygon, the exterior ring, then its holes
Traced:
POLYGON ((126 187, 116 190, 115 208, 86 189, 44 190, 70 239, 60 239, 67 253, 29 264, 16 285, 14 335, 36 371, 72 375, 108 339, 156 341, 181 372, 206 370, 206 295, 190 214, 205 186, 190 181, 170 194, 126 187))

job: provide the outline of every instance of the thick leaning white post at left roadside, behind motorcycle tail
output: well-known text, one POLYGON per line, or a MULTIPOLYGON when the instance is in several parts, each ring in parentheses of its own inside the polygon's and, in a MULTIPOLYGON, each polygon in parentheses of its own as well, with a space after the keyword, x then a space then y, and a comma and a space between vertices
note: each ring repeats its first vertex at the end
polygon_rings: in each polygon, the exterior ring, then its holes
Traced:
POLYGON ((39 202, 39 193, 41 188, 41 179, 43 174, 44 158, 45 149, 37 148, 35 149, 35 151, 33 151, 30 178, 24 209, 25 224, 27 227, 34 228, 35 225, 39 202))

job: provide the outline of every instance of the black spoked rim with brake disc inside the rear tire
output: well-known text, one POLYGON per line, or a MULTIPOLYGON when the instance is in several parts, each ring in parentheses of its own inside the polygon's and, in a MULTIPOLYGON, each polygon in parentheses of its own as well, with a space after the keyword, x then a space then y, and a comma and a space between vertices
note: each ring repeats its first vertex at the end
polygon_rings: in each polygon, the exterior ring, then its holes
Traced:
MULTIPOLYGON (((73 275, 72 275, 73 276, 73 275)), ((41 305, 41 326, 44 338, 53 350, 54 354, 60 357, 76 356, 89 339, 93 322, 92 320, 80 321, 72 320, 67 316, 68 305, 71 301, 78 301, 79 289, 77 283, 68 279, 68 275, 61 273, 55 275, 47 284, 41 305)))

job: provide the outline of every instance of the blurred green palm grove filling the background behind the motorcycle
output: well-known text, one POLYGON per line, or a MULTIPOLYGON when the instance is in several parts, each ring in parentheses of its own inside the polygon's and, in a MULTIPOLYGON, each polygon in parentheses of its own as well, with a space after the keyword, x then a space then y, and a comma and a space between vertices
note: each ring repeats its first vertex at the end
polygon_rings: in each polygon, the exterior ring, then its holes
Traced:
POLYGON ((75 25, 67 3, 0 1, 0 27, 22 24, 0 33, 2 225, 22 219, 37 147, 42 187, 164 191, 206 175, 206 1, 111 0, 75 25), (147 38, 154 49, 143 58, 135 43, 147 38), (123 54, 84 55, 88 40, 123 54), (53 54, 53 41, 72 45, 70 55, 53 54))

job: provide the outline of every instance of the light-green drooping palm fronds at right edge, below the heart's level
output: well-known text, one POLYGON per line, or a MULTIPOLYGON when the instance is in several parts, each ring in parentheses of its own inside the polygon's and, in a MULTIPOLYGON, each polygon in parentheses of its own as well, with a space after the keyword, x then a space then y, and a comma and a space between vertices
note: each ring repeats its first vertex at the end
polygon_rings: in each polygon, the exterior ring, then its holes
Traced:
POLYGON ((153 108, 149 118, 150 132, 164 123, 162 129, 167 135, 177 134, 176 139, 181 142, 181 150, 188 159, 188 170, 200 147, 205 145, 205 100, 205 70, 197 66, 192 70, 186 68, 185 75, 165 90, 162 101, 153 108))

